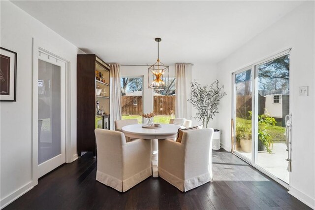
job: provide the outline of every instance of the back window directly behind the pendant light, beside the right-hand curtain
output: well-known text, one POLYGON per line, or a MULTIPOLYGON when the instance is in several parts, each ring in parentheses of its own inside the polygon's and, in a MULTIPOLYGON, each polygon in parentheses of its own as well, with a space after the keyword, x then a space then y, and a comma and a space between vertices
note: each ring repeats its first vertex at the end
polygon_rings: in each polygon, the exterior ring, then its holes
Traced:
POLYGON ((169 123, 171 118, 175 118, 175 78, 164 80, 169 87, 153 91, 153 111, 157 114, 153 120, 155 123, 169 123))

